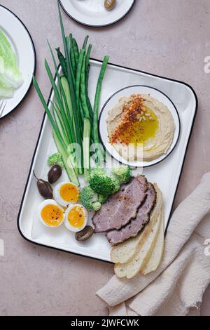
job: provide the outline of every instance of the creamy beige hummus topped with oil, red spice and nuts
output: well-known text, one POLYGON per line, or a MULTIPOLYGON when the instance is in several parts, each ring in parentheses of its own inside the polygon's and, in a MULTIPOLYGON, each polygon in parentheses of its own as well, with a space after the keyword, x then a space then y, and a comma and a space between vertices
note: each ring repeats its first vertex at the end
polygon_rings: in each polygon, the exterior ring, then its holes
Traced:
POLYGON ((146 93, 121 97, 106 124, 109 143, 126 161, 153 161, 167 154, 176 129, 167 105, 146 93))

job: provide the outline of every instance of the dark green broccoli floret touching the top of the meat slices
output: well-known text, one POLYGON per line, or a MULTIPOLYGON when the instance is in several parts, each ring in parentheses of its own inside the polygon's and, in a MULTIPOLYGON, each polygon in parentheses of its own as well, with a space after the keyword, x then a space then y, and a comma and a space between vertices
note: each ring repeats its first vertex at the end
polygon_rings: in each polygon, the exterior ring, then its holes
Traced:
POLYGON ((111 195, 115 188, 112 179, 109 176, 106 176, 106 174, 90 174, 89 183, 94 192, 97 192, 97 194, 103 194, 105 196, 111 195))

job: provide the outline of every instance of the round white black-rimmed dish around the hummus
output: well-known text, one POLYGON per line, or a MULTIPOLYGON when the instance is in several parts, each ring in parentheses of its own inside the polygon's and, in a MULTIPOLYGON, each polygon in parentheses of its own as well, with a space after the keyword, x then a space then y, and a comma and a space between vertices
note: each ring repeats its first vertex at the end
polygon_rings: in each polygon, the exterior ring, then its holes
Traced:
POLYGON ((179 140, 179 134, 180 134, 180 119, 179 119, 179 114, 178 111, 176 110, 176 107, 174 103, 172 103, 172 100, 170 100, 167 95, 164 93, 158 91, 155 88, 151 88, 149 86, 127 86, 123 89, 120 89, 120 91, 117 91, 113 95, 111 95, 111 98, 106 101, 104 104, 104 107, 102 108, 100 117, 99 117, 99 134, 100 138, 102 140, 102 143, 104 147, 106 147, 106 151, 109 152, 115 158, 117 161, 120 161, 123 164, 127 164, 130 166, 137 166, 137 167, 148 167, 148 166, 153 166, 155 164, 160 163, 160 161, 163 161, 165 158, 169 156, 169 154, 172 153, 174 148, 176 147, 176 144, 178 143, 179 140), (166 154, 163 154, 161 157, 158 159, 154 159, 153 161, 126 161, 123 157, 118 154, 116 149, 109 143, 109 136, 107 133, 107 124, 106 120, 109 116, 109 110, 115 106, 118 103, 118 100, 120 98, 123 98, 124 96, 130 96, 132 94, 150 94, 153 96, 153 98, 156 98, 160 102, 164 103, 167 105, 169 108, 169 111, 172 113, 172 117, 174 119, 174 124, 175 124, 175 131, 174 131, 174 140, 169 148, 168 152, 166 154))

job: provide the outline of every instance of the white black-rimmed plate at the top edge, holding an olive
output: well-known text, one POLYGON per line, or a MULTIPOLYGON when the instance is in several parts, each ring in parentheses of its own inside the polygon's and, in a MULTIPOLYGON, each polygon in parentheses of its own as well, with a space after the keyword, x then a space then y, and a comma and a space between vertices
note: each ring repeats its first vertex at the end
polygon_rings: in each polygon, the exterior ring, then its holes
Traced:
POLYGON ((66 13, 83 25, 104 27, 118 22, 131 10, 135 0, 117 0, 115 8, 107 11, 104 0, 59 0, 66 13))

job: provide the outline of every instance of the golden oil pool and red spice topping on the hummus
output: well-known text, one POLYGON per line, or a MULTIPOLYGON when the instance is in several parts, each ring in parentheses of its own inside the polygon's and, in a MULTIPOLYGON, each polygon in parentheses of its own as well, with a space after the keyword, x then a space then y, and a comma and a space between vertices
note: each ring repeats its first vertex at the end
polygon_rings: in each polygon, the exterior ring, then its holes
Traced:
POLYGON ((110 142, 130 143, 137 146, 154 138, 158 130, 158 117, 144 105, 141 95, 132 95, 129 103, 123 107, 123 120, 111 134, 110 142))

